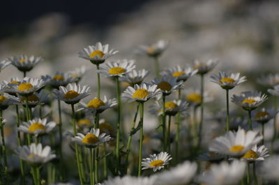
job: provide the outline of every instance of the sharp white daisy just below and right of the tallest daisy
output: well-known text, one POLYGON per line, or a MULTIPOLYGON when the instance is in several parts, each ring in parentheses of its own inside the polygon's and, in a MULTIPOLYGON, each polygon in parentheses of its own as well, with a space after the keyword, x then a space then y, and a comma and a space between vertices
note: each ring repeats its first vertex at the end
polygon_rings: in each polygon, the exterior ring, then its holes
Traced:
POLYGON ((123 77, 124 74, 128 74, 135 69, 134 60, 116 61, 105 63, 105 66, 100 66, 100 70, 97 70, 102 77, 123 77))

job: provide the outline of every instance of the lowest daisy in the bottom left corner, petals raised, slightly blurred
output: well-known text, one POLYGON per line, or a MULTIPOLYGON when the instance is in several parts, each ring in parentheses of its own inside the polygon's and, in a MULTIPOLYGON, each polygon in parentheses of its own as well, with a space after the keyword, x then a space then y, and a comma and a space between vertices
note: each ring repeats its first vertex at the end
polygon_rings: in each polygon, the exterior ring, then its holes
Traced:
POLYGON ((15 154, 20 156, 20 158, 32 165, 41 165, 47 163, 56 157, 51 151, 50 146, 42 147, 42 144, 36 145, 36 143, 31 143, 31 145, 24 145, 18 147, 15 150, 15 154))

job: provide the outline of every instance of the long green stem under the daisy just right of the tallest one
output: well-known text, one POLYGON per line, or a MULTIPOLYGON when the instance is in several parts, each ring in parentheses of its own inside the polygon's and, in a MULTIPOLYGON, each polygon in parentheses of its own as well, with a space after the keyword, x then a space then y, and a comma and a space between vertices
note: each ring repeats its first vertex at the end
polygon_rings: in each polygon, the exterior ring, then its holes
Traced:
POLYGON ((121 89, 120 89, 120 83, 119 78, 115 78, 116 81, 116 92, 117 92, 117 105, 118 105, 118 111, 117 111, 117 134, 116 134, 116 172, 119 174, 120 170, 120 151, 119 151, 119 142, 120 142, 120 124, 121 124, 121 89))

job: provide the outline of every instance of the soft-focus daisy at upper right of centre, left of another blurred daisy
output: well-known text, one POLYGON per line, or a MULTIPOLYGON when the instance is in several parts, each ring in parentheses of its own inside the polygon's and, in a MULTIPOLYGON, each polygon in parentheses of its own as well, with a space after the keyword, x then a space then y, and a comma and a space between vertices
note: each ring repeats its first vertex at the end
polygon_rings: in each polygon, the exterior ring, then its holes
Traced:
POLYGON ((172 67, 162 72, 163 75, 176 77, 177 81, 186 81, 196 73, 197 70, 193 70, 192 67, 180 67, 180 65, 176 65, 176 67, 172 67))

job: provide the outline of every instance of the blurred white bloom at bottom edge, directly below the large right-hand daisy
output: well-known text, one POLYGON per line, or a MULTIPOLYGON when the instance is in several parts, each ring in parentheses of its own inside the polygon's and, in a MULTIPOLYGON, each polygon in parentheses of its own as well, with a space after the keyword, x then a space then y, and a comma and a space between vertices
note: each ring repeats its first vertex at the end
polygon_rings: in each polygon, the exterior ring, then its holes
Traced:
POLYGON ((199 175, 198 181, 209 185, 238 184, 245 174, 246 163, 243 161, 224 161, 219 165, 213 164, 211 168, 199 175))

